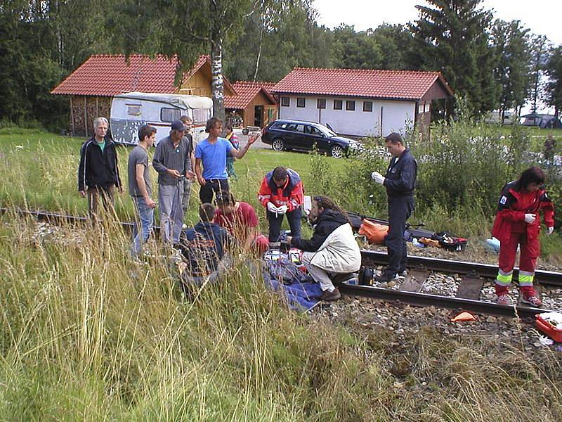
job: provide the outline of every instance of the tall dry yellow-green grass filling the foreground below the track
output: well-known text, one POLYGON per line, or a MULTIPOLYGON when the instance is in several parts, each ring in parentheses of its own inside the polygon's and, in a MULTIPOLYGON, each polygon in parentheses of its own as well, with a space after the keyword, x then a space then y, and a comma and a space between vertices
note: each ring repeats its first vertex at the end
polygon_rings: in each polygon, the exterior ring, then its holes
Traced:
POLYGON ((290 312, 236 258, 190 300, 118 225, 0 218, 0 419, 555 421, 561 359, 290 312), (532 359, 529 359, 532 356, 532 359))

